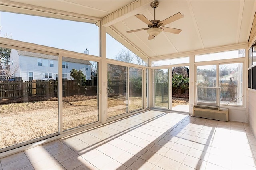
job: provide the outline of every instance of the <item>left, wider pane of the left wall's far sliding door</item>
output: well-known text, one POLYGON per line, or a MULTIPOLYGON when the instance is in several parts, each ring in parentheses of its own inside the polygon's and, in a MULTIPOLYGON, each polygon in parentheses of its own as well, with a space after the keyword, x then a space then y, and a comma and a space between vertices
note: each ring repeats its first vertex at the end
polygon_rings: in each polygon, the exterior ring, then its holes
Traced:
POLYGON ((108 115, 128 112, 128 67, 108 64, 108 115))

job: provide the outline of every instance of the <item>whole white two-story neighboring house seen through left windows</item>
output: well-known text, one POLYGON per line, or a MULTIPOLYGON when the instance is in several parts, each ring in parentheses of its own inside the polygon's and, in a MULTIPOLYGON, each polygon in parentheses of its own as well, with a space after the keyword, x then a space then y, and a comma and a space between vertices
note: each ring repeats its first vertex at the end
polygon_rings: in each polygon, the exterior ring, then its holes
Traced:
MULTIPOLYGON (((86 80, 91 80, 91 63, 87 60, 64 57, 62 62, 62 78, 71 80, 70 71, 75 68, 82 70, 86 80)), ((10 53, 10 69, 15 70, 14 76, 28 80, 58 79, 58 57, 41 53, 12 49, 10 53), (15 64, 13 64, 15 63, 15 64), (15 67, 19 66, 19 69, 15 67)))

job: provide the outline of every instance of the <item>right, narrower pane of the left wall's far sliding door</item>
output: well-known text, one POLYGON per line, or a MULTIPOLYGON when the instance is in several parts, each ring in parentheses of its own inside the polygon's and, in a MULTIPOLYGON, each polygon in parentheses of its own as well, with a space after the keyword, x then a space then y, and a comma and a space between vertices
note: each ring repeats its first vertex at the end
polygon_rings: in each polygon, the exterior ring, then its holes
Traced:
POLYGON ((142 69, 129 68, 129 111, 142 109, 142 69))

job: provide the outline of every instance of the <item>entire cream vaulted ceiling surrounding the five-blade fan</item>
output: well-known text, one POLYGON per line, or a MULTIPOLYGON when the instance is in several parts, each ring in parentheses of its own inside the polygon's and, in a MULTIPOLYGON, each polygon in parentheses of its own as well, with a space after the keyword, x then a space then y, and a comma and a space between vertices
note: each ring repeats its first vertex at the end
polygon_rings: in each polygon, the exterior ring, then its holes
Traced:
POLYGON ((159 0, 156 19, 162 21, 180 12, 184 18, 166 26, 182 31, 180 34, 161 32, 153 40, 148 40, 146 30, 130 34, 126 31, 147 28, 144 22, 134 16, 135 14, 143 14, 149 20, 154 19, 150 0, 15 2, 103 19, 103 25, 107 27, 109 34, 123 44, 131 43, 134 49, 146 57, 247 43, 256 11, 255 0, 159 0))

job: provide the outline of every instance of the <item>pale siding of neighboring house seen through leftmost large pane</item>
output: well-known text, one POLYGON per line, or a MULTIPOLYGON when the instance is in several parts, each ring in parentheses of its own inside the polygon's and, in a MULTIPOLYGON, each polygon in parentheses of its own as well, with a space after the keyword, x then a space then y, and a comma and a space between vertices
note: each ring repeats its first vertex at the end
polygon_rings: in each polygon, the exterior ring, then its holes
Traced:
MULTIPOLYGON (((57 57, 56 57, 57 58, 57 57)), ((23 81, 28 81, 28 72, 33 72, 34 80, 49 80, 51 78, 44 78, 44 73, 52 73, 53 79, 56 79, 56 74, 58 74, 58 60, 48 59, 53 61, 54 67, 38 66, 38 57, 30 57, 20 55, 20 77, 23 81)))

